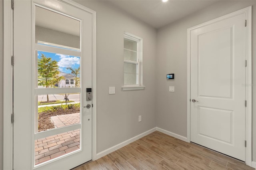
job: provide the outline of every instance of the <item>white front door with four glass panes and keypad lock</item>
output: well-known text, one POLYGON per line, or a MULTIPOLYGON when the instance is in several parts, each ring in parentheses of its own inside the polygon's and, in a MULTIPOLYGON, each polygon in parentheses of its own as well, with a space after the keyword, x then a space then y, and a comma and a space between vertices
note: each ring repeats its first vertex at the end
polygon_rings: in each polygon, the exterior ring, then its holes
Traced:
POLYGON ((70 3, 14 1, 14 170, 92 160, 92 14, 70 3))

